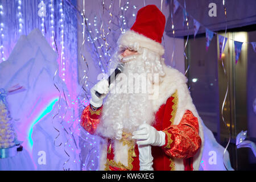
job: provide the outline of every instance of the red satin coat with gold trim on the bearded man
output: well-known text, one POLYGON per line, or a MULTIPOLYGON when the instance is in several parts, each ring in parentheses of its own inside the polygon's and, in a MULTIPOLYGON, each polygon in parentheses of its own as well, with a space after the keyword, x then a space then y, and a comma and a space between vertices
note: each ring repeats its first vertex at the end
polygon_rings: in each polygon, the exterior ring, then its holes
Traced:
MULTIPOLYGON (((166 144, 162 147, 152 146, 154 170, 175 170, 174 159, 183 159, 186 171, 193 169, 193 156, 201 146, 199 136, 199 122, 191 111, 186 110, 179 125, 174 125, 177 110, 177 94, 167 99, 166 104, 159 107, 155 114, 154 126, 158 131, 166 133, 166 144)), ((87 106, 81 116, 81 126, 90 134, 94 134, 102 107, 93 111, 87 106)), ((126 141, 126 144, 130 144, 126 141)), ((135 142, 131 142, 128 166, 114 161, 114 140, 108 139, 107 170, 139 170, 139 151, 135 142)))

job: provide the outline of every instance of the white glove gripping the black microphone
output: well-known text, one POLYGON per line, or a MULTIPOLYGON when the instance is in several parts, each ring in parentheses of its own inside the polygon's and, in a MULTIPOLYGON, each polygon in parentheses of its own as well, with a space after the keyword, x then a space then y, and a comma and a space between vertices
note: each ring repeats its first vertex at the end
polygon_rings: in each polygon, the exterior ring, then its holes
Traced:
POLYGON ((103 99, 106 97, 106 94, 109 93, 109 90, 108 80, 102 79, 101 81, 97 82, 97 84, 90 89, 90 104, 94 107, 101 107, 103 99), (96 92, 100 93, 101 96, 96 96, 96 92))

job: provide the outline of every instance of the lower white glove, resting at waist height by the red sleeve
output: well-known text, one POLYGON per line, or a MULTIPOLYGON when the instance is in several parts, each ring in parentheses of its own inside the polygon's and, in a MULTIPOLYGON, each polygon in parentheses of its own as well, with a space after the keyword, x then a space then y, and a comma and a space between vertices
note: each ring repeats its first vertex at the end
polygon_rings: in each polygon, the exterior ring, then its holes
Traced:
POLYGON ((134 131, 132 138, 138 140, 138 145, 163 146, 166 143, 166 134, 147 123, 140 125, 139 130, 134 131))

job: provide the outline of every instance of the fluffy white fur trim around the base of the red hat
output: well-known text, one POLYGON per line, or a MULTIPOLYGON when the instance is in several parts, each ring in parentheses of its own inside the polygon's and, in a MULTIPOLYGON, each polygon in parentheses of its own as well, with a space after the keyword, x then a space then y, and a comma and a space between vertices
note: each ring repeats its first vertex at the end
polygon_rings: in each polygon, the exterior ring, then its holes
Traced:
POLYGON ((125 34, 121 35, 117 44, 119 48, 127 47, 132 48, 135 51, 139 51, 139 48, 147 48, 158 53, 160 56, 164 54, 164 47, 162 44, 133 30, 128 30, 125 34))

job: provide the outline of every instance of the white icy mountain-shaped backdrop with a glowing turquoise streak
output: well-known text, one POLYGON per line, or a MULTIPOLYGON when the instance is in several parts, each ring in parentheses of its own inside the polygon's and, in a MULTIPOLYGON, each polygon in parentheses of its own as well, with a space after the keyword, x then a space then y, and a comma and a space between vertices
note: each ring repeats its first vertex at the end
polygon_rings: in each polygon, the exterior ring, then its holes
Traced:
POLYGON ((28 36, 20 36, 9 59, 0 64, 0 88, 19 84, 25 89, 7 96, 7 102, 18 139, 34 159, 36 169, 79 170, 80 164, 74 162, 79 161, 79 144, 76 138, 69 139, 73 137, 73 122, 63 118, 74 115, 70 114, 74 108, 69 111, 59 107, 70 101, 68 96, 63 98, 68 90, 55 74, 56 60, 57 53, 42 33, 34 29, 28 36))

